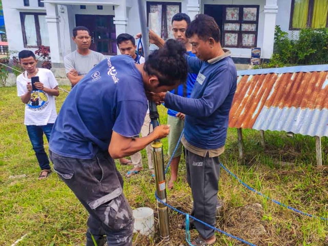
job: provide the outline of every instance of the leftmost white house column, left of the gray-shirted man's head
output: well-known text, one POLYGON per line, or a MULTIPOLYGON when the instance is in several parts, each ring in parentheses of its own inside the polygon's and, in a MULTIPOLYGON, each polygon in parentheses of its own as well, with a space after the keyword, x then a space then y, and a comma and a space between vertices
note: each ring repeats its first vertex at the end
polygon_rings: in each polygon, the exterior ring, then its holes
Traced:
POLYGON ((63 52, 61 52, 59 15, 56 4, 45 4, 47 10, 47 24, 49 32, 51 63, 54 67, 63 66, 63 52), (61 66, 60 66, 61 64, 61 66))

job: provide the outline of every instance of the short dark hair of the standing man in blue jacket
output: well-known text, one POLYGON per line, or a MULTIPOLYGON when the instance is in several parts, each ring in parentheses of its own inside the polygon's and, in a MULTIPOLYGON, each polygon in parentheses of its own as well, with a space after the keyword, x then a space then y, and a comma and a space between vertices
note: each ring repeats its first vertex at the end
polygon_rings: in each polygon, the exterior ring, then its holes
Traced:
POLYGON ((195 19, 190 23, 186 30, 186 37, 190 38, 194 34, 202 40, 212 37, 215 42, 219 43, 221 32, 215 19, 207 14, 197 14, 195 19))

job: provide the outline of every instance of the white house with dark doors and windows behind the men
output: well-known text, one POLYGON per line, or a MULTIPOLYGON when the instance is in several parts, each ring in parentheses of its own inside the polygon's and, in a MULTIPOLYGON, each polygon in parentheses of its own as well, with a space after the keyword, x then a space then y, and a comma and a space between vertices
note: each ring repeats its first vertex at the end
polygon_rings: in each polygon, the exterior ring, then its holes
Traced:
MULTIPOLYGON (((140 32, 136 0, 2 0, 10 50, 36 50, 50 47, 55 68, 63 67, 63 58, 76 49, 72 29, 86 26, 92 34, 91 49, 115 55, 115 38, 120 33, 140 32)), ((145 10, 151 28, 165 38, 171 18, 177 12, 191 19, 198 13, 213 16, 221 28, 223 47, 232 51, 237 63, 249 63, 252 47, 261 47, 261 57, 273 52, 274 30, 283 31, 328 25, 327 0, 167 0, 147 1, 145 10), (309 9, 309 11, 308 11, 309 9), (149 14, 150 13, 150 14, 149 14), (322 13, 321 13, 322 15, 322 13), (325 22, 324 22, 325 21, 325 22), (321 23, 321 24, 320 24, 321 23)), ((297 31, 296 31, 297 32, 297 31)))

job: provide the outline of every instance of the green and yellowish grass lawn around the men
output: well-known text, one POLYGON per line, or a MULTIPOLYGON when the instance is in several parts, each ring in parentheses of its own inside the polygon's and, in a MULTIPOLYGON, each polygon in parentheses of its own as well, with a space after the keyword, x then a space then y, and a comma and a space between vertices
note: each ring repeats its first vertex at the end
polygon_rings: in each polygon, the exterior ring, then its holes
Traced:
MULTIPOLYGON (((69 90, 69 87, 64 87, 69 90)), ((65 100, 60 92, 57 110, 65 100)), ((74 194, 53 173, 47 180, 37 180, 39 168, 24 126, 24 105, 16 88, 0 88, 0 245, 84 245, 88 214, 74 194), (11 175, 26 174, 20 179, 11 175)), ((166 110, 159 108, 161 124, 166 123, 166 110)), ((316 216, 328 217, 328 139, 322 138, 323 167, 316 167, 315 139, 283 132, 265 132, 267 146, 260 145, 260 134, 243 130, 245 162, 238 159, 236 129, 229 129, 226 151, 221 161, 244 182, 265 195, 316 216), (294 166, 279 167, 279 161, 294 166)), ((45 138, 45 142, 46 138, 45 138)), ((165 162, 168 162, 167 139, 163 140, 165 162)), ((48 148, 48 143, 46 144, 48 148)), ((155 210, 155 183, 147 167, 126 179, 124 192, 132 208, 155 210)), ((122 175, 131 167, 117 165, 122 175)), ((175 189, 168 191, 172 206, 190 212, 191 191, 186 182, 185 162, 179 166, 175 189)), ((169 179, 168 173, 167 179, 169 179)), ((219 198, 224 209, 217 227, 257 245, 328 245, 328 222, 312 219, 252 193, 221 169, 219 198)), ((156 210, 155 210, 156 211, 156 210)), ((155 213, 155 222, 157 213, 155 213)), ((170 245, 185 243, 185 231, 177 229, 183 216, 170 210, 170 245)), ((191 231, 191 236, 196 232, 191 231)), ((133 245, 162 245, 156 233, 152 238, 134 235, 133 245)), ((185 243, 186 245, 186 243, 185 243)), ((244 245, 217 234, 215 245, 244 245)))

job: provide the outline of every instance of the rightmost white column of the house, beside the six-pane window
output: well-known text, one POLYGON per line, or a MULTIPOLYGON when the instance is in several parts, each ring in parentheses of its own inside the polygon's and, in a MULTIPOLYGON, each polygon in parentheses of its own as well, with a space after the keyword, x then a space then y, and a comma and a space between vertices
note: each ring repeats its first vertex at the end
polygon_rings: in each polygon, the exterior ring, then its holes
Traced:
POLYGON ((264 6, 264 33, 262 58, 269 59, 273 54, 278 0, 267 0, 264 6))

